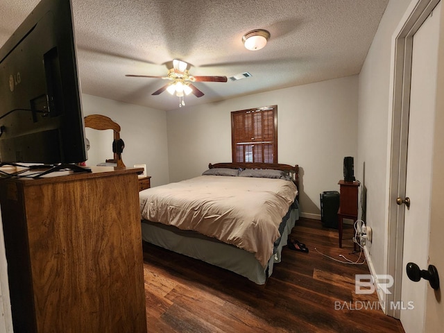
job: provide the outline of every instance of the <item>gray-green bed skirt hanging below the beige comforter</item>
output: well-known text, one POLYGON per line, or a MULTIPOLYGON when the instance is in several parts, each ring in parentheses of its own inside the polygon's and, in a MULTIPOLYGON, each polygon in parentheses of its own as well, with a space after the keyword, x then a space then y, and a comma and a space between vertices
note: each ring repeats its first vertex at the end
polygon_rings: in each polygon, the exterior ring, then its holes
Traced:
POLYGON ((265 269, 253 253, 195 232, 182 231, 161 223, 142 220, 142 239, 150 244, 228 269, 257 284, 265 284, 266 279, 273 273, 274 264, 281 261, 282 247, 287 245, 288 235, 298 219, 298 204, 295 202, 282 221, 281 237, 275 242, 274 253, 265 269))

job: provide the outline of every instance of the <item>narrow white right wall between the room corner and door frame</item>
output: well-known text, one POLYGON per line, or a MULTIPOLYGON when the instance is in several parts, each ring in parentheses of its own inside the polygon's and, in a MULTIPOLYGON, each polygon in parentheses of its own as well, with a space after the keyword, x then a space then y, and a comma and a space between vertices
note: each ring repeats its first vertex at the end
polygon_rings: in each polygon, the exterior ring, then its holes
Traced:
POLYGON ((358 158, 355 175, 366 187, 366 223, 373 229, 368 247, 375 273, 385 274, 388 249, 386 165, 391 75, 391 40, 409 1, 390 0, 359 74, 358 158))

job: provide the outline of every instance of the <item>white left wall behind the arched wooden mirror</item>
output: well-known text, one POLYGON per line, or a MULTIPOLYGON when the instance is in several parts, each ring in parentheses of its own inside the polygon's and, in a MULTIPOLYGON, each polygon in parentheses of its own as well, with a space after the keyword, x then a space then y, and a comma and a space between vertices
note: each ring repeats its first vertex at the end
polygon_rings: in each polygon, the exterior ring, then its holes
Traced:
MULTIPOLYGON (((125 142, 122 160, 126 167, 134 164, 146 164, 147 174, 151 176, 151 186, 164 185, 169 182, 168 173, 168 144, 167 144, 167 116, 166 112, 139 105, 121 103, 110 99, 82 95, 83 115, 103 114, 119 123, 120 137, 125 142)), ((105 143, 98 143, 96 138, 89 138, 91 145, 105 146, 112 158, 112 135, 106 131, 100 137, 105 143)), ((94 153, 93 150, 92 153, 94 153)), ((91 154, 92 155, 92 154, 91 154)), ((90 157, 96 165, 96 158, 90 157)), ((105 162, 105 159, 101 160, 105 162)), ((89 162, 87 161, 89 165, 89 162)))

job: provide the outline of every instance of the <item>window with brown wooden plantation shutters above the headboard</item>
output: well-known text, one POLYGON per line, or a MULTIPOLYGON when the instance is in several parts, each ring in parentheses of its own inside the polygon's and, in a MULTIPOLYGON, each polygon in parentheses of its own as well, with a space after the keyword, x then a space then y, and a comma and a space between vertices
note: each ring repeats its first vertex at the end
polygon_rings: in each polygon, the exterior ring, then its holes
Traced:
POLYGON ((278 105, 231 112, 233 162, 278 163, 278 105))

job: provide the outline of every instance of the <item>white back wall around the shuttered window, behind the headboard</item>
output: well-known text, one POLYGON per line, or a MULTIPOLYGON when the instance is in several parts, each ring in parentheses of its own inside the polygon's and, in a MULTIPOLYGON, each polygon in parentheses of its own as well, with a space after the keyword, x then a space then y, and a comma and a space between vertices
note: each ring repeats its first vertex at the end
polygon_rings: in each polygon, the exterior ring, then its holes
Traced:
POLYGON ((265 105, 278 105, 278 162, 299 164, 301 211, 319 218, 319 194, 339 191, 343 157, 357 155, 357 76, 167 112, 170 180, 231 162, 230 112, 265 105))

